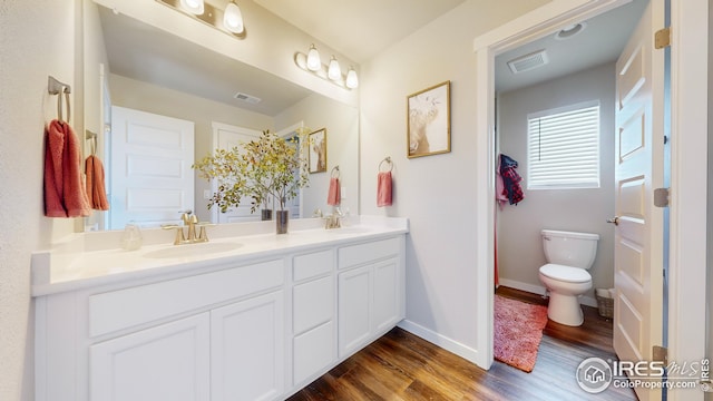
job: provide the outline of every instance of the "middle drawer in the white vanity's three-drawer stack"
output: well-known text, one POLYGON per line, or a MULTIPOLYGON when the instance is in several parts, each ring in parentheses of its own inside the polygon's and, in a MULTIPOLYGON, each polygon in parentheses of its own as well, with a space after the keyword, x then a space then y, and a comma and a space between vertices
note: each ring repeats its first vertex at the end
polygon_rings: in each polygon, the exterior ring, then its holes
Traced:
POLYGON ((300 334, 332 320, 334 315, 334 280, 332 276, 295 285, 292 290, 292 296, 294 334, 300 334))

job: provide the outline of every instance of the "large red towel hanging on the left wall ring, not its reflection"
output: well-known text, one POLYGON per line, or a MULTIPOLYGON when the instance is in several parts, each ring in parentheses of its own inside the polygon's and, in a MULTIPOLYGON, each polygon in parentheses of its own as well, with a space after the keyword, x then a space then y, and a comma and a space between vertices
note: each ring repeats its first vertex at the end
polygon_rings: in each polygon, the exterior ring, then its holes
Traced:
POLYGON ((69 124, 52 120, 45 129, 45 215, 86 217, 90 213, 77 135, 69 124))

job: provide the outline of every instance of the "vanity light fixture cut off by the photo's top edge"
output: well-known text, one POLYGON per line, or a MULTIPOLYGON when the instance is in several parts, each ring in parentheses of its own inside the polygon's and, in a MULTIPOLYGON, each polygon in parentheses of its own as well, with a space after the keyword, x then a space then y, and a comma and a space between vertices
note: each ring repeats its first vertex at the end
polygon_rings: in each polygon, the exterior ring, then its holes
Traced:
POLYGON ((243 13, 235 0, 228 0, 225 11, 204 0, 156 0, 176 11, 237 38, 245 37, 243 13))

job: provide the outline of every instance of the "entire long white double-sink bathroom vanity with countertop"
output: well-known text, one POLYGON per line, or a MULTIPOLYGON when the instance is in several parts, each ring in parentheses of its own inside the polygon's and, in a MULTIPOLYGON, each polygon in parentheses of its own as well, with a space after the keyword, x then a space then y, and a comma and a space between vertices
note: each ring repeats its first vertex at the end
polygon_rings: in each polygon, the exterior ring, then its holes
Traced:
POLYGON ((407 232, 38 253, 37 400, 284 399, 404 317, 407 232))

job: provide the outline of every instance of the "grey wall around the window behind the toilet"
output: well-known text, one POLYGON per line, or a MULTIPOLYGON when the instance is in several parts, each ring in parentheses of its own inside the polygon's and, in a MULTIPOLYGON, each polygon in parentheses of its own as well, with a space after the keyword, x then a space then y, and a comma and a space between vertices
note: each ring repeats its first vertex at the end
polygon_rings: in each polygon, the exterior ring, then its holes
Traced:
MULTIPOLYGON (((614 286, 614 226, 605 221, 614 216, 615 78, 614 63, 608 63, 498 96, 500 151, 518 160, 518 174, 525 178, 525 199, 498 214, 502 284, 529 291, 543 286, 538 270, 546 262, 539 232, 548 228, 599 234, 589 273, 595 288, 614 286), (600 187, 528 190, 527 115, 589 100, 599 101, 600 187)), ((594 302, 593 292, 586 294, 589 303, 594 302)))

